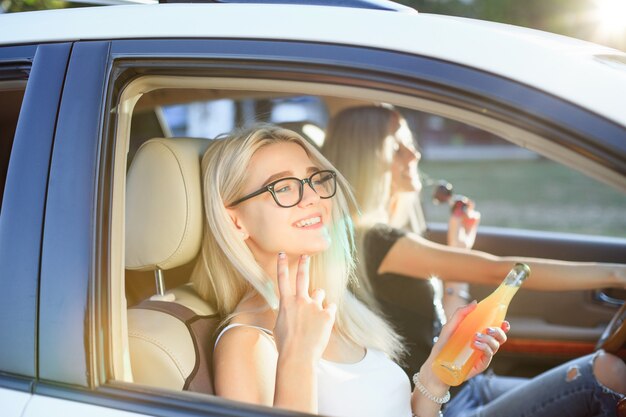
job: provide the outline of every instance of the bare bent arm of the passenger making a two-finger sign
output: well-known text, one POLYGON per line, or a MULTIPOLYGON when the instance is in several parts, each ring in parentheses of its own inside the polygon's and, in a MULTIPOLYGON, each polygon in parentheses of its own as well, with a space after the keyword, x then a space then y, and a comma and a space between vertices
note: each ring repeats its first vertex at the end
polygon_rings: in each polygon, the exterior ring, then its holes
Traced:
POLYGON ((217 395, 317 414, 316 366, 328 344, 336 306, 324 305, 322 290, 309 295, 308 273, 309 258, 302 256, 293 285, 286 255, 279 254, 274 340, 246 326, 224 333, 214 352, 217 395))

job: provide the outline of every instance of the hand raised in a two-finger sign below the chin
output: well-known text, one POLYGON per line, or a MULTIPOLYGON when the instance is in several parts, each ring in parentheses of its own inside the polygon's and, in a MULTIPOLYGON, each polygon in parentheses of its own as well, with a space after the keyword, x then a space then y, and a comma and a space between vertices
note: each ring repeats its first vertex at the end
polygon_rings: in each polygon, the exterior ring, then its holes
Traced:
POLYGON ((278 291, 280 305, 274 338, 279 356, 319 360, 328 345, 337 307, 334 303, 324 305, 322 289, 309 294, 308 256, 300 257, 294 289, 289 279, 287 256, 282 252, 278 255, 278 291))

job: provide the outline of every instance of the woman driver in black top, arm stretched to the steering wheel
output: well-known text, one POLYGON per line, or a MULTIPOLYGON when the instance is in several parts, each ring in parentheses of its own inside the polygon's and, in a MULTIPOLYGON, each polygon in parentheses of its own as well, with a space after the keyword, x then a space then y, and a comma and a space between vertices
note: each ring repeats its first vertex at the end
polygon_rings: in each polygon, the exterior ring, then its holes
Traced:
POLYGON ((513 263, 530 266, 532 274, 524 284, 528 289, 626 285, 626 265, 498 257, 468 250, 480 219, 472 202, 452 213, 448 246, 423 238, 417 170, 421 155, 406 120, 393 108, 363 106, 338 113, 329 123, 322 153, 354 187, 360 209, 352 213, 362 260, 359 296, 380 305, 407 341, 412 353, 408 373, 426 359, 446 316, 471 300, 466 283, 498 285, 513 263))

